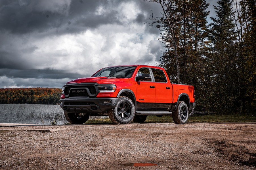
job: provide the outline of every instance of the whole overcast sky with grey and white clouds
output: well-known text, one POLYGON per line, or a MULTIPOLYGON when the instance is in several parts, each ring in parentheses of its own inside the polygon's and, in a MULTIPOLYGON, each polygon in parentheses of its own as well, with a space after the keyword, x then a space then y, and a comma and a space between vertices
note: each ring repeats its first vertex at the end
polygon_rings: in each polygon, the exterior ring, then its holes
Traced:
POLYGON ((165 49, 145 24, 151 10, 160 15, 142 0, 1 0, 0 88, 61 88, 106 66, 156 65, 165 49))

